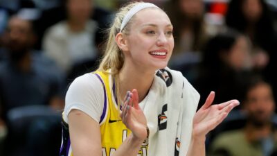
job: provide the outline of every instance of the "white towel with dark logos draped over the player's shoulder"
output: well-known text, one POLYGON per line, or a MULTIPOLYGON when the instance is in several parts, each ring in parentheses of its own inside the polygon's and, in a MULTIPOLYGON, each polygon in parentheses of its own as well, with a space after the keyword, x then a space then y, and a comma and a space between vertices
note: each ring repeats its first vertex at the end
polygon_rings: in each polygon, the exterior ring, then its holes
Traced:
POLYGON ((199 98, 179 71, 157 71, 143 108, 150 129, 148 156, 186 155, 199 98))

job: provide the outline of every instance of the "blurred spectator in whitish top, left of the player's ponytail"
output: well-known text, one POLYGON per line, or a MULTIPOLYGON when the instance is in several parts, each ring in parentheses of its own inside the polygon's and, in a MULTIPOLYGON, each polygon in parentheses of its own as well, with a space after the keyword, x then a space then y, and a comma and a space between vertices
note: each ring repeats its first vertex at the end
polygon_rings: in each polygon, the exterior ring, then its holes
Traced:
POLYGON ((67 74, 78 64, 98 58, 96 21, 90 19, 93 0, 66 0, 67 19, 51 26, 43 39, 43 49, 67 74))

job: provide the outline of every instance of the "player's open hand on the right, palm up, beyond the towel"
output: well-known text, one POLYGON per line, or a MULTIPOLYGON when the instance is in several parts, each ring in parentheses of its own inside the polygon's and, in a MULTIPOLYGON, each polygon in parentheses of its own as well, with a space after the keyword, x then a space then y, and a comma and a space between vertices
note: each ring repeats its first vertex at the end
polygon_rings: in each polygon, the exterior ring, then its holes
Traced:
POLYGON ((204 105, 197 111, 193 119, 193 137, 205 138, 206 134, 219 125, 233 110, 240 105, 237 100, 227 101, 217 105, 211 105, 215 98, 215 92, 211 92, 204 105))

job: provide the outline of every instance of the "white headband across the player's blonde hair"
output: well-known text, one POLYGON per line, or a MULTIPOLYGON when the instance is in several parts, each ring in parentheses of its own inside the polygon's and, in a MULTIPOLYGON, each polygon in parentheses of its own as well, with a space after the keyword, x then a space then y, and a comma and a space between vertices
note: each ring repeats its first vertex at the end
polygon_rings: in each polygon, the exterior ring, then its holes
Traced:
POLYGON ((159 8, 157 6, 155 6, 152 3, 138 3, 136 4, 136 6, 134 6, 133 8, 131 8, 127 14, 125 15, 121 26, 120 26, 120 32, 122 32, 123 28, 126 26, 126 24, 129 22, 129 20, 136 14, 136 12, 139 12, 139 10, 143 10, 144 8, 159 8))

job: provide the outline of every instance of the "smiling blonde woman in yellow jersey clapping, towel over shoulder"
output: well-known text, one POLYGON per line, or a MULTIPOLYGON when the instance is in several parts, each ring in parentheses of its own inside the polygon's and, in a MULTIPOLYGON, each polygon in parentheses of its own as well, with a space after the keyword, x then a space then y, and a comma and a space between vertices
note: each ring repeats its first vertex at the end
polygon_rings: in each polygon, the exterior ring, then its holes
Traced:
POLYGON ((239 103, 211 106, 212 92, 195 114, 199 94, 166 68, 173 46, 163 10, 121 8, 98 71, 76 78, 66 94, 60 155, 205 155, 205 135, 239 103))

